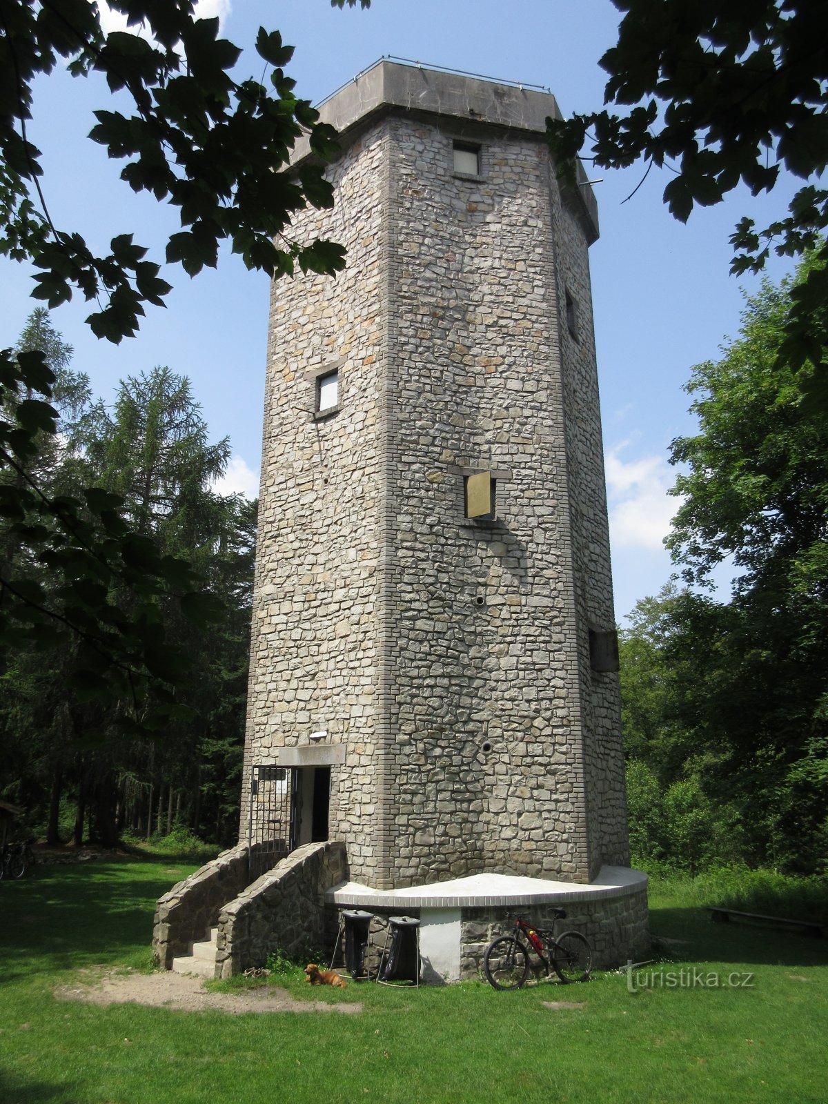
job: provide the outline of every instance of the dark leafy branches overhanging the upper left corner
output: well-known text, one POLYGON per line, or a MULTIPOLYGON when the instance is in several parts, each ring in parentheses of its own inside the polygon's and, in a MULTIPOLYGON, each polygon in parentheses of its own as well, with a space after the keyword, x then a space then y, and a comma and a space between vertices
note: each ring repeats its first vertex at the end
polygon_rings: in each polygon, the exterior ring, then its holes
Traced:
POLYGON ((278 31, 259 29, 256 53, 269 84, 232 76, 241 50, 219 38, 217 19, 195 19, 191 0, 112 0, 137 33, 104 34, 92 0, 8 0, 0 11, 0 253, 41 269, 33 293, 56 307, 79 290, 99 309, 87 321, 118 342, 138 329, 145 305, 163 306, 170 285, 132 235, 117 234, 96 256, 76 232, 55 226, 45 201, 41 152, 26 136, 32 83, 59 60, 77 77, 103 73, 110 92, 126 92, 135 110, 97 110, 89 137, 125 160, 121 179, 178 208, 181 231, 166 261, 190 276, 215 267, 229 242, 248 268, 272 276, 333 274, 344 251, 327 240, 305 245, 287 233, 290 215, 308 204, 331 206, 319 160, 336 150, 336 131, 319 121, 285 74, 294 47, 278 31), (290 169, 296 141, 307 137, 318 160, 290 169), (34 191, 34 195, 32 195, 34 191), (276 244, 278 241, 280 244, 276 244))

